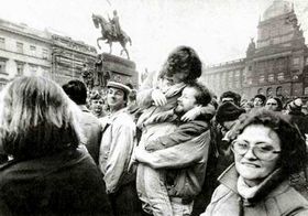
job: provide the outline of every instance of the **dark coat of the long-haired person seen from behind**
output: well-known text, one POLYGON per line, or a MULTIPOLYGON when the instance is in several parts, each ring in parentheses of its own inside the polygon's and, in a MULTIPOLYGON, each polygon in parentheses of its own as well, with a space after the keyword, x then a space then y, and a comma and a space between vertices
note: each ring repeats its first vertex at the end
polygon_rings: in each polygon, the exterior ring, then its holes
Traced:
POLYGON ((0 215, 112 215, 84 147, 0 166, 0 215))

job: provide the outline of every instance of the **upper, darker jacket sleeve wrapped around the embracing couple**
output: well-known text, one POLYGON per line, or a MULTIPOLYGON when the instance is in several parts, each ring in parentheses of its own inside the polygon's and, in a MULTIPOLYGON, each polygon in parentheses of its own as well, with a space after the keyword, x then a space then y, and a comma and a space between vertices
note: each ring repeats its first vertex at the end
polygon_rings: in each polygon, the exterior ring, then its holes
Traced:
POLYGON ((207 130, 207 128, 208 125, 205 121, 190 121, 184 123, 179 126, 174 132, 162 136, 158 139, 150 142, 145 147, 145 150, 161 150, 187 142, 201 134, 207 130))

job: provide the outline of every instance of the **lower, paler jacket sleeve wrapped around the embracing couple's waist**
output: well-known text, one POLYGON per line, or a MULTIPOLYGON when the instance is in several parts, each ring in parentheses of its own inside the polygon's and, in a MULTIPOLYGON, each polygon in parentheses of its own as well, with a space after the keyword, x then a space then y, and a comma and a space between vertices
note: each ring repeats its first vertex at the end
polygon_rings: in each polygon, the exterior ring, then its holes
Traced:
POLYGON ((185 143, 177 144, 155 152, 145 150, 138 152, 136 159, 153 169, 179 169, 190 166, 205 154, 205 148, 210 143, 210 131, 185 143))

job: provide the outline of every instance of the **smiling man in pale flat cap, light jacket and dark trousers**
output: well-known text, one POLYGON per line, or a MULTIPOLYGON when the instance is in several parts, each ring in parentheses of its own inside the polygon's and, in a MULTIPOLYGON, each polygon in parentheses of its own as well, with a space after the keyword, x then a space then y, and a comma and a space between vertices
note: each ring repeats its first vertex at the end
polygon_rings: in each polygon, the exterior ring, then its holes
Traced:
POLYGON ((116 82, 109 82, 107 87, 110 114, 100 119, 102 139, 99 169, 103 174, 114 215, 139 215, 141 204, 135 190, 134 173, 130 171, 131 155, 135 147, 135 123, 124 109, 130 88, 116 82))

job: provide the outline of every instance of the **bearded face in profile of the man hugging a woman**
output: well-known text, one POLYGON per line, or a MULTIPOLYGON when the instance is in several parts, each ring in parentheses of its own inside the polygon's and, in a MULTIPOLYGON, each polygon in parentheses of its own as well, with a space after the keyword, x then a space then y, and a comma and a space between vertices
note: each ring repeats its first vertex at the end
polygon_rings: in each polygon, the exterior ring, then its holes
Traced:
POLYGON ((197 105, 196 100, 197 90, 191 87, 186 87, 182 91, 182 96, 177 99, 177 114, 185 114, 197 105))

